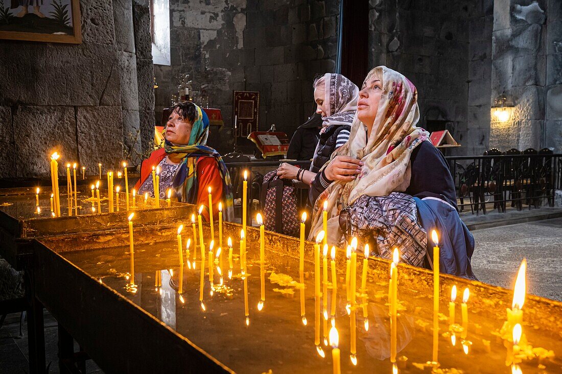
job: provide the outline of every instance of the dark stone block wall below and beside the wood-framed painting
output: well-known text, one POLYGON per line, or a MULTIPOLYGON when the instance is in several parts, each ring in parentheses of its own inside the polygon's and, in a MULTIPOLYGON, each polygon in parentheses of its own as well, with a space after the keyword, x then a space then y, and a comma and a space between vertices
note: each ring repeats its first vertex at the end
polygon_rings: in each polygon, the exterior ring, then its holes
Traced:
POLYGON ((133 34, 149 19, 133 20, 133 4, 148 11, 147 0, 81 0, 81 44, 0 40, 1 177, 48 175, 53 150, 94 172, 119 165, 124 143, 150 147, 150 38, 133 34), (130 129, 146 139, 129 142, 130 129))

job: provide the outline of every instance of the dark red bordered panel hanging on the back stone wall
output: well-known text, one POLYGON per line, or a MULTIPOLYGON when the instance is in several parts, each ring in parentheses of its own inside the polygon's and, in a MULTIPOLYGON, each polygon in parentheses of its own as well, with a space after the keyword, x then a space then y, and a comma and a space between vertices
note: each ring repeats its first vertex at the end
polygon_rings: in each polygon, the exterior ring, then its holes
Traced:
POLYGON ((256 91, 234 91, 235 136, 247 138, 257 131, 260 93, 256 91))

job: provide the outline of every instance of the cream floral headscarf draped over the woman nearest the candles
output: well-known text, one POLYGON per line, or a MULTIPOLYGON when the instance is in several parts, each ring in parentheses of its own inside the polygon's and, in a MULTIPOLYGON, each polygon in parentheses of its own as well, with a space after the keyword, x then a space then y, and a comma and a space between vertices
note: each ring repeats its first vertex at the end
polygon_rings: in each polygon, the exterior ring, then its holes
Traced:
MULTIPOLYGON (((350 182, 334 181, 320 194, 314 204, 309 240, 322 230, 321 209, 328 201, 328 241, 341 242, 339 212, 361 195, 387 196, 393 191, 405 191, 410 184, 410 156, 412 150, 426 140, 429 133, 416 127, 419 120, 418 92, 402 74, 377 66, 365 81, 379 77, 382 85, 377 116, 369 139, 366 126, 353 118, 348 142, 332 154, 360 159, 365 165, 361 174, 350 182)), ((324 166, 325 167, 325 166, 324 166)))

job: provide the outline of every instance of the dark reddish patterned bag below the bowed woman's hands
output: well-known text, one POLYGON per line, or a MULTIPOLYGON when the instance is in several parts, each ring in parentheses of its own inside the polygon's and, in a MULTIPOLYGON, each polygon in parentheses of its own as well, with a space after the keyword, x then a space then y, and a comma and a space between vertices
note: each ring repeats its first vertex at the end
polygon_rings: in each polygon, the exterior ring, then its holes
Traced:
POLYGON ((292 180, 280 179, 277 170, 266 174, 261 185, 261 206, 266 230, 298 235, 297 192, 292 180))

